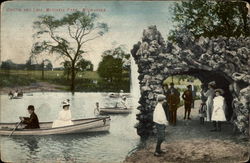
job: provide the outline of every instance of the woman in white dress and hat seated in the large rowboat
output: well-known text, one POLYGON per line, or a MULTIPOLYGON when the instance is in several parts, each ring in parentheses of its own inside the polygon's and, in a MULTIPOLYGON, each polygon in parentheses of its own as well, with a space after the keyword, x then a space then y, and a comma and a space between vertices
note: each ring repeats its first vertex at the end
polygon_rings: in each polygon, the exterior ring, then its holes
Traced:
POLYGON ((71 111, 69 109, 69 101, 63 101, 63 110, 59 112, 57 120, 52 124, 52 128, 73 125, 71 121, 71 111))

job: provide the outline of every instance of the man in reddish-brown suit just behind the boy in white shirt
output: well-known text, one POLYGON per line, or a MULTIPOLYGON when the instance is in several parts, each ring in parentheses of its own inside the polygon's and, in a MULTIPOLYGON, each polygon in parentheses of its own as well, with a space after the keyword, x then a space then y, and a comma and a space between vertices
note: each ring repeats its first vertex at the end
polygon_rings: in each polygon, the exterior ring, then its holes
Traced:
POLYGON ((177 121, 177 109, 180 103, 180 92, 174 88, 174 83, 170 84, 169 95, 167 97, 167 102, 169 106, 169 122, 172 125, 176 125, 177 121))

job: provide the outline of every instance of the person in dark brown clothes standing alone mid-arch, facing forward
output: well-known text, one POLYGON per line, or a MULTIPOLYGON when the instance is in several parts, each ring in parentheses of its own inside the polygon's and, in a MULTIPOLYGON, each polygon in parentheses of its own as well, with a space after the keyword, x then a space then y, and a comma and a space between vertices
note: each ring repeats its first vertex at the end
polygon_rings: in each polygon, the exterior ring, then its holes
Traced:
POLYGON ((188 114, 187 119, 191 120, 190 113, 191 113, 191 106, 193 103, 192 86, 188 85, 187 88, 188 89, 185 90, 182 95, 182 98, 184 100, 184 108, 185 108, 184 119, 186 119, 186 115, 188 114))

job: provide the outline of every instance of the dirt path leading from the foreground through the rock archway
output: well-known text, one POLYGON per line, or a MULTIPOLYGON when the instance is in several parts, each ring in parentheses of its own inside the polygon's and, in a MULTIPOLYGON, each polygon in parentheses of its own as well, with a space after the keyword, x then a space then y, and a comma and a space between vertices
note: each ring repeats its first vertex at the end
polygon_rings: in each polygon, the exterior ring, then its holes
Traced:
POLYGON ((177 126, 168 126, 166 141, 162 149, 167 153, 161 157, 153 156, 155 138, 150 139, 141 149, 126 158, 126 163, 163 163, 163 162, 218 162, 230 163, 246 160, 250 143, 234 134, 229 123, 222 125, 221 132, 210 132, 211 123, 200 125, 196 101, 192 110, 192 120, 183 120, 184 108, 178 109, 177 126))

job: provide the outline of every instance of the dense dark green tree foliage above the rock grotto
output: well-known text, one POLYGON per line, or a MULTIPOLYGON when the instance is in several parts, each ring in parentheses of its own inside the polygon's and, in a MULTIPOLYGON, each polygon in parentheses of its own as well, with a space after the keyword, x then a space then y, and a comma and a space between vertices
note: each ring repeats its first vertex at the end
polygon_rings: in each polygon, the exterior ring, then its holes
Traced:
POLYGON ((195 38, 249 36, 246 3, 242 1, 191 0, 176 3, 173 21, 176 28, 169 39, 178 41, 178 35, 188 31, 195 38))

